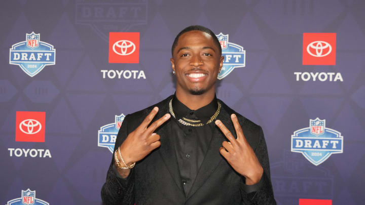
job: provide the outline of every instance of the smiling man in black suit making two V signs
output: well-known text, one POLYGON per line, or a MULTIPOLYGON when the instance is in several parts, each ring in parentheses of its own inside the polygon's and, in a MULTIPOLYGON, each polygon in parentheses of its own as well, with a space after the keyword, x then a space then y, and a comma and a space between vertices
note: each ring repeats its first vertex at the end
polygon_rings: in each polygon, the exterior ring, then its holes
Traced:
POLYGON ((105 204, 276 204, 264 134, 215 97, 224 57, 203 26, 172 45, 175 95, 128 114, 101 190, 105 204))

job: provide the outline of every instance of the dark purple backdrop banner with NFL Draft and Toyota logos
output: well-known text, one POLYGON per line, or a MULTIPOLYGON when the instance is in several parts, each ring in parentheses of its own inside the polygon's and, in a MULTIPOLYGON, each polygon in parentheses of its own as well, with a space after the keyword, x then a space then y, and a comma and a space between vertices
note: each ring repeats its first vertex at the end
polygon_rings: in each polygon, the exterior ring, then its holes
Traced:
POLYGON ((217 97, 264 129, 278 204, 365 201, 363 1, 9 0, 0 10, 1 204, 101 204, 124 116, 174 93, 171 45, 195 24, 221 42, 217 97))

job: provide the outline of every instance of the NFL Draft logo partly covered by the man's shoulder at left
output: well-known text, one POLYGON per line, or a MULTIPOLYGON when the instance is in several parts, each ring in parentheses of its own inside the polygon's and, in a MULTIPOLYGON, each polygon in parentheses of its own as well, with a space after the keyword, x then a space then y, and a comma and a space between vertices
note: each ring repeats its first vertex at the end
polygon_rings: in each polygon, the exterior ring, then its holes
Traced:
POLYGON ((106 147, 112 153, 114 151, 114 144, 117 139, 118 131, 122 126, 125 115, 115 115, 115 122, 104 125, 98 131, 98 147, 106 147))

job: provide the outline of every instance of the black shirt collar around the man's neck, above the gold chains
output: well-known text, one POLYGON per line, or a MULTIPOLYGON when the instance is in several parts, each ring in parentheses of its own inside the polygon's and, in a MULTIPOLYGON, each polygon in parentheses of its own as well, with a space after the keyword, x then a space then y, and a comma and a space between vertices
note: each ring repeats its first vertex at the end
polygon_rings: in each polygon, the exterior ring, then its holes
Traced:
POLYGON ((174 95, 172 99, 172 109, 177 119, 180 119, 182 117, 192 118, 191 116, 196 116, 205 124, 218 109, 218 102, 216 96, 214 95, 213 100, 209 104, 197 110, 191 110, 189 107, 180 102, 177 99, 176 95, 174 95), (190 113, 194 114, 192 115, 190 113))

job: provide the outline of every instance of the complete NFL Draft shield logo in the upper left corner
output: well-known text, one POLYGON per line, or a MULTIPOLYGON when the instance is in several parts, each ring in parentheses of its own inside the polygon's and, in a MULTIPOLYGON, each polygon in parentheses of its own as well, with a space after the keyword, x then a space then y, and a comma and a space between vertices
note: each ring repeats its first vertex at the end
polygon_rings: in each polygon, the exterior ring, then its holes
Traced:
POLYGON ((40 34, 26 33, 25 42, 12 46, 9 63, 19 65, 30 77, 38 74, 46 65, 56 62, 56 50, 51 44, 40 41, 40 34))

